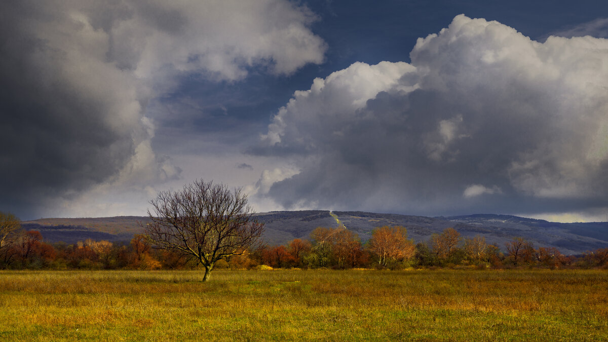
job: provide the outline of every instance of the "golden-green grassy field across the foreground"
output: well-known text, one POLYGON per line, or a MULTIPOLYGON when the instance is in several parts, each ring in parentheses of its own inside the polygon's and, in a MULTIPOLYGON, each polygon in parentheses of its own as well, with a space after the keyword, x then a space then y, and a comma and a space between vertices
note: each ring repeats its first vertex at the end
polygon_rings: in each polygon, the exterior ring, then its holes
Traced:
POLYGON ((0 271, 2 341, 607 341, 597 270, 0 271))

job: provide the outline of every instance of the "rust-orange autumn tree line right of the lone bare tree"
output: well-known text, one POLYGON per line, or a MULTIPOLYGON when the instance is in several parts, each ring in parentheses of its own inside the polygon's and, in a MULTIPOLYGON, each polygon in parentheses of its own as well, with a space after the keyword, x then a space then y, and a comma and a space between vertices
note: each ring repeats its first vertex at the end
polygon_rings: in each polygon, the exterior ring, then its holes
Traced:
MULTIPOLYGON (((608 248, 566 256, 554 247, 538 247, 522 237, 505 243, 487 243, 485 237, 463 237, 446 228, 415 243, 402 226, 382 226, 362 243, 345 228, 317 228, 309 240, 265 246, 254 262, 272 268, 608 268, 608 248)), ((238 268, 239 265, 229 267, 238 268)))

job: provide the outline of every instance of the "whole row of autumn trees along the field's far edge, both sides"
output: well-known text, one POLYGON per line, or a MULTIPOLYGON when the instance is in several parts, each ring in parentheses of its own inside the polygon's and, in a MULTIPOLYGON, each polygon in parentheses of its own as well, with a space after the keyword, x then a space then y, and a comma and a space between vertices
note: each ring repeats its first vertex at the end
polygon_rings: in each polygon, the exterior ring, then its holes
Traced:
MULTIPOLYGON (((149 236, 136 234, 128 243, 87 239, 75 244, 47 243, 38 231, 22 231, 19 220, 0 212, 2 269, 190 269, 196 257, 157 248, 149 236), (156 247, 156 248, 155 248, 156 247)), ((454 228, 425 242, 407 239, 401 226, 376 228, 363 243, 345 228, 316 228, 309 239, 286 245, 263 245, 219 259, 215 268, 608 268, 608 248, 581 256, 564 256, 556 248, 536 248, 520 237, 503 246, 482 236, 462 237, 454 228)))

